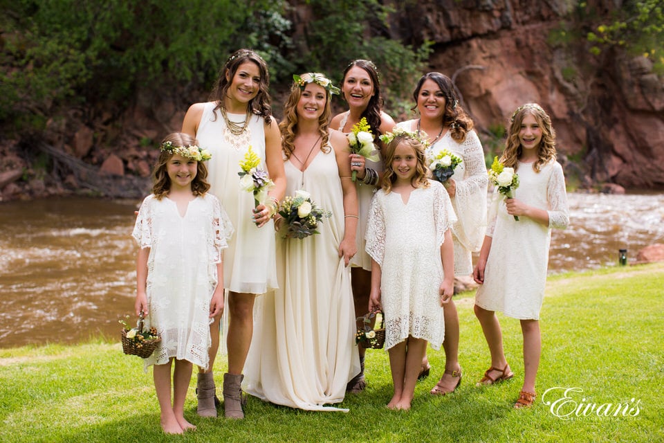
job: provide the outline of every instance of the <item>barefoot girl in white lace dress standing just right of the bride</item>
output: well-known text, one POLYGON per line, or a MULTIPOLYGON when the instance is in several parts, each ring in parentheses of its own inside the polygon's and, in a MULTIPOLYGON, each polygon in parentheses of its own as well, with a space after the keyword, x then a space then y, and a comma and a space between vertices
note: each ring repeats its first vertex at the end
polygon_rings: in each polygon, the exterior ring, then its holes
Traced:
POLYGON ((385 149, 382 189, 371 201, 367 253, 371 255, 369 310, 385 315, 385 348, 394 383, 390 409, 410 409, 422 358, 445 334, 443 305, 454 293, 450 227, 456 221, 448 193, 427 179, 424 145, 395 129, 385 149))

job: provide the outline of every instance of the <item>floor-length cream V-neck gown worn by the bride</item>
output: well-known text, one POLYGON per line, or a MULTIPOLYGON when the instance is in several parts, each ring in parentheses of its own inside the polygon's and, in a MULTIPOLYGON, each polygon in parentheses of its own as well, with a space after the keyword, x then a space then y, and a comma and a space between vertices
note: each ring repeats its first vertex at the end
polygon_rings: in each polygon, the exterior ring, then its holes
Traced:
POLYGON ((256 304, 254 339, 244 368, 246 392, 274 404, 304 410, 344 399, 348 381, 360 371, 349 268, 339 257, 344 206, 331 147, 303 173, 286 161, 286 195, 304 189, 331 218, 320 234, 283 239, 277 234, 279 288, 256 304), (304 185, 302 181, 304 180, 304 185))

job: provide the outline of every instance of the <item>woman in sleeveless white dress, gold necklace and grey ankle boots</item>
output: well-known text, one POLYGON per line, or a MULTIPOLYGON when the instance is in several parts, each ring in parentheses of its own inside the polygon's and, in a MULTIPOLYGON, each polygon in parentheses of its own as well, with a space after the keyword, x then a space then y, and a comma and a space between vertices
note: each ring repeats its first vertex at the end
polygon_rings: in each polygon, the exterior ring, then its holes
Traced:
MULTIPOLYGON (((275 235, 272 217, 284 197, 286 177, 279 128, 271 116, 269 75, 264 60, 254 51, 240 49, 221 69, 210 102, 195 103, 185 115, 182 132, 195 136, 212 153, 208 162, 210 192, 236 228, 223 260, 223 287, 228 290, 228 373, 223 377, 225 417, 243 418, 242 370, 253 330, 255 296, 277 287, 275 235), (239 162, 251 145, 275 183, 268 201, 254 208, 251 192, 239 187, 239 162)), ((196 387, 203 417, 216 417, 212 377, 219 349, 221 315, 210 326, 212 347, 207 370, 199 368, 196 387)))

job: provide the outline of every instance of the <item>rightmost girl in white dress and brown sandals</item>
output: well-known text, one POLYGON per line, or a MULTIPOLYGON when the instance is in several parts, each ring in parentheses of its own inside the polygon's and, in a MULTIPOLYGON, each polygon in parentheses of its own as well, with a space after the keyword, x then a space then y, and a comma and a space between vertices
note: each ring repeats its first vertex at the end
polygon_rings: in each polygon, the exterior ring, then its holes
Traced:
POLYGON ((474 311, 491 352, 491 367, 478 384, 491 385, 514 376, 505 358, 495 311, 519 318, 524 335, 524 385, 514 407, 522 408, 535 401, 542 350, 539 319, 551 228, 569 224, 565 178, 555 161, 555 132, 540 105, 528 103, 514 112, 501 161, 519 174, 519 187, 512 199, 495 192, 492 208, 496 209, 488 217, 473 270, 474 280, 481 284, 474 311))

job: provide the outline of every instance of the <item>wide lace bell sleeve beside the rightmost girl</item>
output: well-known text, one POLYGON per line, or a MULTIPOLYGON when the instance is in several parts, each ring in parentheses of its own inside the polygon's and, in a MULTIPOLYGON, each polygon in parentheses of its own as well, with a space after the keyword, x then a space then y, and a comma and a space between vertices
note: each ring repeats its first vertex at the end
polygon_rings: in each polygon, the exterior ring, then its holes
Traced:
POLYGON ((468 132, 461 144, 464 177, 453 177, 456 184, 454 210, 458 221, 452 226, 459 242, 469 251, 479 251, 486 229, 486 188, 488 175, 484 150, 474 131, 468 132))

